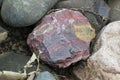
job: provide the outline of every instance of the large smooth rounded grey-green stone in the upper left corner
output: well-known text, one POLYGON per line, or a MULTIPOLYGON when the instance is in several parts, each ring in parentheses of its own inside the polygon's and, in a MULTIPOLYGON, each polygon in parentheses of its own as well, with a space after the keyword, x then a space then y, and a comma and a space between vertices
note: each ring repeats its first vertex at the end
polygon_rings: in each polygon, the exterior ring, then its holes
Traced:
POLYGON ((36 23, 58 0, 4 0, 1 16, 14 27, 36 23))

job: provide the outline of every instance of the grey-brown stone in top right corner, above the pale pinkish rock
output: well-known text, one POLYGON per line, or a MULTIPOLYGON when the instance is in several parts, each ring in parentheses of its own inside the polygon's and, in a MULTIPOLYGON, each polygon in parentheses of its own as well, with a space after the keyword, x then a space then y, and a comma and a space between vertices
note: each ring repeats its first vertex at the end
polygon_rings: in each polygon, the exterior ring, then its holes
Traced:
POLYGON ((110 10, 110 19, 111 21, 120 20, 120 0, 109 0, 108 1, 111 10, 110 10))

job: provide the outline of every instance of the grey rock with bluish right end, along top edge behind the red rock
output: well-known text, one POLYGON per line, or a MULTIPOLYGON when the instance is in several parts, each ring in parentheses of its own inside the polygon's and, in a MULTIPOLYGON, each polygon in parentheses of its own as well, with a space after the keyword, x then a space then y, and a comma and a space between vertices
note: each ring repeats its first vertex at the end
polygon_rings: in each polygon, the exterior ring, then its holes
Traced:
POLYGON ((57 8, 77 8, 103 16, 105 19, 109 18, 109 6, 104 0, 61 0, 56 4, 57 8))

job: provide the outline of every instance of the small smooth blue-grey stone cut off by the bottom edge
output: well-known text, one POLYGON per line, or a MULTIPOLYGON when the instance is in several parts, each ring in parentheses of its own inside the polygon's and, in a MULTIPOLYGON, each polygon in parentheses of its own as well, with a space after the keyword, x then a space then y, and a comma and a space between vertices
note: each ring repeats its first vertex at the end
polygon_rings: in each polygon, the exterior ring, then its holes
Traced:
POLYGON ((48 71, 41 72, 35 80, 56 80, 56 78, 48 71))

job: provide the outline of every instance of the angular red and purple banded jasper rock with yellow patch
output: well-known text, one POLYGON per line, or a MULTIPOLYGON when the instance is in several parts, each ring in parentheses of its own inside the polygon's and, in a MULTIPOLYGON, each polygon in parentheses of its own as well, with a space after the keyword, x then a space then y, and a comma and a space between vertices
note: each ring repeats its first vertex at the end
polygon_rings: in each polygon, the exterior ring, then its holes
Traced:
POLYGON ((89 56, 95 30, 78 11, 62 9, 46 15, 29 35, 27 43, 46 63, 66 68, 89 56))

